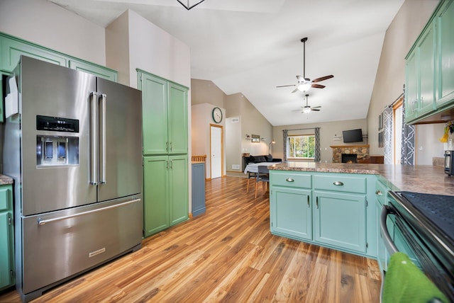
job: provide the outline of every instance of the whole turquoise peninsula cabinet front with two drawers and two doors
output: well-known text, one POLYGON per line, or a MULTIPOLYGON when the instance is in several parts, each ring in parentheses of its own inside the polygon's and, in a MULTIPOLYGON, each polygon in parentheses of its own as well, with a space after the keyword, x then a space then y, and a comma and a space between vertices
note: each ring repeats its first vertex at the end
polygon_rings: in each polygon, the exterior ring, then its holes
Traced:
POLYGON ((377 256, 374 175, 270 170, 272 234, 377 256))

